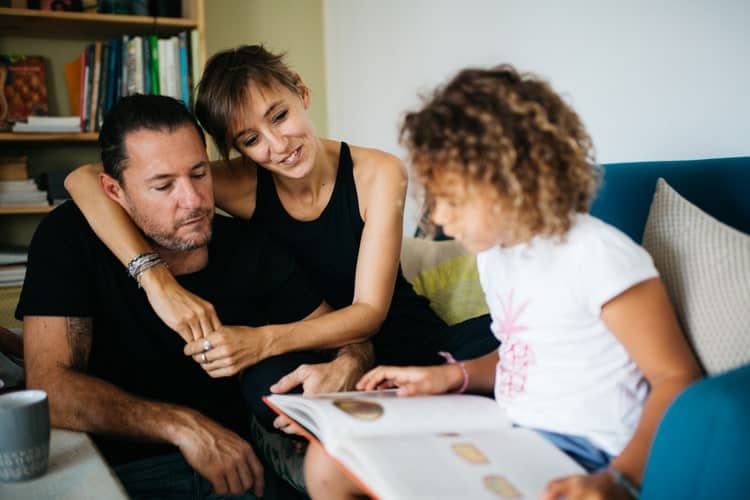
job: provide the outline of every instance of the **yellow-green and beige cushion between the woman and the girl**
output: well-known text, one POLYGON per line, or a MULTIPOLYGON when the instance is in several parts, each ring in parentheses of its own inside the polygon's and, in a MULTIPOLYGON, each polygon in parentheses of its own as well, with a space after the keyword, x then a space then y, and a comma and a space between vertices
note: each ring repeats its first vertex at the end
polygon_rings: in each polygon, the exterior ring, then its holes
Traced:
POLYGON ((488 313, 476 258, 457 241, 404 238, 401 267, 414 290, 449 325, 488 313))

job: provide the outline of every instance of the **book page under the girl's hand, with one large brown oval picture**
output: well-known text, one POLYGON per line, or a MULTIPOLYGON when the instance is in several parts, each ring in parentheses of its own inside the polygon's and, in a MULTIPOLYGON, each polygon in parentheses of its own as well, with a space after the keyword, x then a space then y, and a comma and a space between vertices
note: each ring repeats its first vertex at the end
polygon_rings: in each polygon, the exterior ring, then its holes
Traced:
POLYGON ((511 425, 494 400, 468 394, 400 398, 395 390, 387 390, 314 397, 274 394, 266 399, 329 450, 335 449, 340 440, 359 435, 456 432, 511 425))

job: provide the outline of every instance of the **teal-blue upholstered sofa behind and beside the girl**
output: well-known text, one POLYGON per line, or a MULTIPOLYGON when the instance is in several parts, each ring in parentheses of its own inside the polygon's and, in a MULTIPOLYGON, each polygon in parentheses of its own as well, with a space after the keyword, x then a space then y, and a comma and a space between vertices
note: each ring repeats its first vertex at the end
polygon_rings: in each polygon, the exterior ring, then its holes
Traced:
MULTIPOLYGON (((640 242, 659 177, 750 234, 750 157, 604 165, 592 213, 640 242)), ((662 498, 750 498, 750 365, 701 380, 670 406, 641 493, 644 500, 662 498)))

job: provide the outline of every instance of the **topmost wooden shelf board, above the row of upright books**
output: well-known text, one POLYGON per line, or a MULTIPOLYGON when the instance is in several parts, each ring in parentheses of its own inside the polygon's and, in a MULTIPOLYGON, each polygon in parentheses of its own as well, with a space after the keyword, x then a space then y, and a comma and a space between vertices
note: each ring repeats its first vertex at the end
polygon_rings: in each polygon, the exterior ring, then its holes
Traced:
POLYGON ((198 23, 189 18, 0 7, 0 32, 3 36, 105 40, 123 34, 175 35, 197 26, 198 23))

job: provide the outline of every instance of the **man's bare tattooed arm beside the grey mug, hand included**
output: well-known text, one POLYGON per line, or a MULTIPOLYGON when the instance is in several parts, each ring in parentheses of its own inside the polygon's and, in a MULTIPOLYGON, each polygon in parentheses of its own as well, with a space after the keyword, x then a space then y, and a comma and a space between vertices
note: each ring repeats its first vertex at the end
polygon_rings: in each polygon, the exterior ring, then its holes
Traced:
POLYGON ((27 386, 47 392, 53 426, 171 443, 217 494, 250 487, 262 494, 262 466, 234 432, 189 408, 134 397, 86 375, 92 338, 90 318, 24 318, 27 386))

